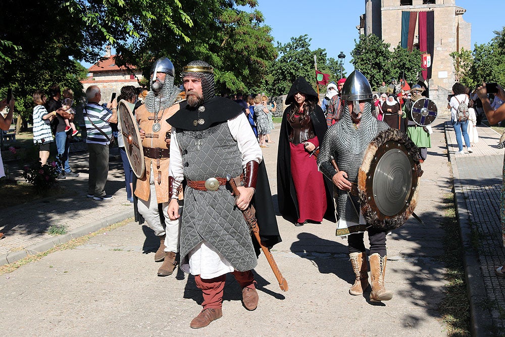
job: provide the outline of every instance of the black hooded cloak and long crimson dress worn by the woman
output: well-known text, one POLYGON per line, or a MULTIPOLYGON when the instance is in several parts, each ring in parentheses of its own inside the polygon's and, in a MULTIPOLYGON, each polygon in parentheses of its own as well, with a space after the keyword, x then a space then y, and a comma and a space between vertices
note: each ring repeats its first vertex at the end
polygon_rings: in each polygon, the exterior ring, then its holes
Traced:
POLYGON ((320 139, 328 129, 323 111, 316 104, 317 93, 304 77, 289 89, 279 137, 277 158, 277 198, 279 211, 301 226, 308 220, 333 220, 331 181, 324 181, 317 170, 316 156, 320 139), (305 101, 295 101, 296 94, 305 101), (311 148, 313 148, 311 150, 311 148))

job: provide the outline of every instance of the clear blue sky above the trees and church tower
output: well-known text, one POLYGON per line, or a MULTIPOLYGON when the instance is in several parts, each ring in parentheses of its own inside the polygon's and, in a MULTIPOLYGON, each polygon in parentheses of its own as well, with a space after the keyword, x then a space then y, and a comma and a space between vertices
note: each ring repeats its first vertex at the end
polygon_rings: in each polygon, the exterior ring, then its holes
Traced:
MULTIPOLYGON (((472 24, 472 49, 475 43, 489 42, 493 31, 505 25, 504 0, 456 0, 456 5, 467 10, 463 19, 472 24)), ((327 56, 334 59, 343 51, 347 73, 354 69, 349 63, 350 51, 359 37, 356 26, 365 13, 365 0, 259 0, 258 9, 265 17, 264 24, 272 28, 275 45, 307 34, 313 50, 326 49, 327 56)))

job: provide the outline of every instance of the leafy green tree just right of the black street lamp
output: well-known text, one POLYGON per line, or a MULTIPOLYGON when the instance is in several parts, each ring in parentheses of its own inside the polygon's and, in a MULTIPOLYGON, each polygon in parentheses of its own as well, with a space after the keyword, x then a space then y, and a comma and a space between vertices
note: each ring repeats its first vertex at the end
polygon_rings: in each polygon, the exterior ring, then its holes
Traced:
POLYGON ((389 43, 381 40, 377 35, 360 35, 356 46, 351 51, 351 63, 367 77, 373 89, 382 83, 397 78, 391 67, 392 54, 389 43))

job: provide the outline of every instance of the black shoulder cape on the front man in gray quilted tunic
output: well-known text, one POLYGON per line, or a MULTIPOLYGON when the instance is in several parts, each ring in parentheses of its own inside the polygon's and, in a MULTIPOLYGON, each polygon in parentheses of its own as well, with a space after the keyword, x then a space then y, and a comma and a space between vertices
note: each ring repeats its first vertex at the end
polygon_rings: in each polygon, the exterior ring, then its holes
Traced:
POLYGON ((217 123, 223 123, 242 113, 242 107, 232 100, 224 97, 213 97, 201 106, 196 108, 190 107, 187 101, 180 103, 180 110, 172 117, 167 119, 167 122, 173 127, 184 130, 205 130, 217 123), (204 107, 203 112, 199 112, 199 108, 204 107), (203 124, 193 124, 195 120, 203 119, 203 124))

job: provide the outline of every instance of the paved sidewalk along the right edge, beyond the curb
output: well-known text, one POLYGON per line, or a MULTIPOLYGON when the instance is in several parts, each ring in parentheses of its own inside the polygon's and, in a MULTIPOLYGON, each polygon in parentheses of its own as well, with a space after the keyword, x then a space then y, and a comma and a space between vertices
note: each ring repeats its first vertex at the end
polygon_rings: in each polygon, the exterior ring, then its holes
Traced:
POLYGON ((472 147, 474 153, 460 155, 456 154, 456 134, 447 122, 447 149, 465 246, 473 326, 481 333, 505 335, 505 278, 494 274, 505 263, 499 219, 503 149, 497 148, 500 134, 484 125, 477 127, 479 142, 472 147))

